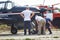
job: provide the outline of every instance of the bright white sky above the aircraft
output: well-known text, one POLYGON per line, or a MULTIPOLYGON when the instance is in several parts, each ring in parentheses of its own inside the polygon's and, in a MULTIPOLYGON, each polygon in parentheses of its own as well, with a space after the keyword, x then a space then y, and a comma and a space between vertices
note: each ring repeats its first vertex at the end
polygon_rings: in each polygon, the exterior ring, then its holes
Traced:
MULTIPOLYGON (((7 1, 7 0, 0 0, 0 1, 7 1)), ((24 5, 35 6, 40 4, 43 5, 43 2, 44 2, 44 0, 10 0, 10 1, 14 2, 15 5, 17 6, 24 6, 24 5)), ((51 6, 56 3, 60 3, 60 0, 45 0, 44 5, 51 6)), ((60 4, 55 5, 55 7, 60 8, 60 4)))

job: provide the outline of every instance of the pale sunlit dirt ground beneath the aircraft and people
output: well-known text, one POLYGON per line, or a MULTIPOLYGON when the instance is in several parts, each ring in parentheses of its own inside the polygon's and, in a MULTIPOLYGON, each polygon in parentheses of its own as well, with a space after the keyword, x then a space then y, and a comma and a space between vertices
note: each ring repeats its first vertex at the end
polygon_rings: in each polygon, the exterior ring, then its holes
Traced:
POLYGON ((0 32, 0 40, 60 40, 60 29, 52 29, 53 34, 49 35, 46 30, 46 35, 24 35, 23 30, 18 30, 16 35, 10 33, 10 30, 0 32))

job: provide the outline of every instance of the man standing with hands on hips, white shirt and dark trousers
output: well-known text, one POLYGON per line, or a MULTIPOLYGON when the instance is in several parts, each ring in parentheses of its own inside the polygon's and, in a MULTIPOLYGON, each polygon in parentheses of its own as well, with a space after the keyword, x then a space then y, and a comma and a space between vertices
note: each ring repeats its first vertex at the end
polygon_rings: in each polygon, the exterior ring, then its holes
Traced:
POLYGON ((29 35, 31 34, 31 18, 34 16, 34 12, 29 7, 22 11, 20 14, 24 18, 24 35, 27 34, 27 28, 29 35))

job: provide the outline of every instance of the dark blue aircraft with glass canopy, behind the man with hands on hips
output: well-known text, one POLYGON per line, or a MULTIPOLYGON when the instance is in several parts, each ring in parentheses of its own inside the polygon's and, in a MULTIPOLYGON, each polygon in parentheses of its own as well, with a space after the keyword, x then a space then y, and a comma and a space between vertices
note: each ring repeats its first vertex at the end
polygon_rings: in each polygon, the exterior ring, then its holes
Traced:
MULTIPOLYGON (((7 24, 11 26, 11 33, 12 34, 17 34, 18 29, 23 28, 23 18, 20 16, 20 12, 26 9, 26 7, 17 7, 13 6, 10 7, 11 1, 6 1, 6 2, 0 2, 0 4, 5 3, 4 8, 0 8, 0 23, 1 24, 7 24), (8 5, 10 8, 8 8, 8 5)), ((30 7, 30 10, 35 12, 35 15, 40 15, 39 10, 36 9, 35 7, 30 7)), ((35 19, 35 15, 32 18, 32 21, 35 19)))

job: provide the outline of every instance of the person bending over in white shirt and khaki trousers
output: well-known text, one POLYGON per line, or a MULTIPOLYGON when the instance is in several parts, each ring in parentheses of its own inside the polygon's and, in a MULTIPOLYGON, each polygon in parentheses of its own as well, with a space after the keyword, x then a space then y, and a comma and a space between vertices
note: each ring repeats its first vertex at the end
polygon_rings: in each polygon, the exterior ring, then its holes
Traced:
POLYGON ((40 34, 45 34, 45 25, 46 25, 46 20, 45 18, 36 15, 35 16, 35 20, 37 22, 38 25, 38 35, 40 34), (43 27, 43 33, 41 33, 41 28, 43 27))

